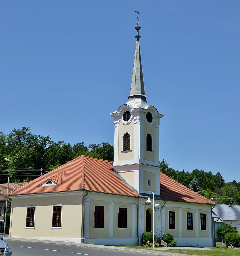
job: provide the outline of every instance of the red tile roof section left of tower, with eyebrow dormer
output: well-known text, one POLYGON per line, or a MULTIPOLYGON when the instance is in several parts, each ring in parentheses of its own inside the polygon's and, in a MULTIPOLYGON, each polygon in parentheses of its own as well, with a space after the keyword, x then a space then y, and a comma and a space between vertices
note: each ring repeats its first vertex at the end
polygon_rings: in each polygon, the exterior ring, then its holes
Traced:
POLYGON ((111 161, 82 155, 16 189, 10 195, 89 190, 137 197, 111 170, 111 166, 111 161), (48 179, 57 185, 41 186, 48 179))

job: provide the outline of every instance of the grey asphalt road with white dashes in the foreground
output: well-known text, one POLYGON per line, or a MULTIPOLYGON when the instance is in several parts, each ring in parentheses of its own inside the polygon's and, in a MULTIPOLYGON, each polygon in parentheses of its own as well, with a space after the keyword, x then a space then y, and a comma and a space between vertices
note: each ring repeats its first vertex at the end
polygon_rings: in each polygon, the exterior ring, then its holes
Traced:
POLYGON ((147 255, 143 253, 112 251, 105 249, 93 249, 76 246, 22 242, 22 241, 7 241, 12 248, 12 256, 140 256, 147 255))

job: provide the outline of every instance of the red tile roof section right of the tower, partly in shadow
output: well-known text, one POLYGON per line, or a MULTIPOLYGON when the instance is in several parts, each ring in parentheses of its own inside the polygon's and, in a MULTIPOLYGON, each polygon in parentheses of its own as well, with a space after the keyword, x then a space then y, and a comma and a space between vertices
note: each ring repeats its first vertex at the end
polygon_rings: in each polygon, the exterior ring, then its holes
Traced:
POLYGON ((160 172, 160 194, 165 200, 216 204, 160 172))

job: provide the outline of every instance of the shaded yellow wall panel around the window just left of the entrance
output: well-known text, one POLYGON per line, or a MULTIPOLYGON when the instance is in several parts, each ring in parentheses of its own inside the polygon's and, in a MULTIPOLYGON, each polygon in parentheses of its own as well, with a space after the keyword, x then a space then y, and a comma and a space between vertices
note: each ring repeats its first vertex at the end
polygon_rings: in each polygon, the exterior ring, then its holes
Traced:
POLYGON ((114 202, 113 206, 113 238, 132 238, 132 204, 114 202), (127 207, 127 229, 118 228, 118 208, 127 207))

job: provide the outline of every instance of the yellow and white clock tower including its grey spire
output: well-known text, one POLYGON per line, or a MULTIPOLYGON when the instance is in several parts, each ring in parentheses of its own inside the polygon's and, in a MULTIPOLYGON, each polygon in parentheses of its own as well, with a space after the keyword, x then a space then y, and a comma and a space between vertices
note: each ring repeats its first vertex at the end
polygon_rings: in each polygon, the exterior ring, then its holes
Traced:
POLYGON ((128 102, 111 113, 114 117, 113 169, 140 195, 160 195, 159 119, 163 117, 146 101, 137 30, 132 81, 128 102))

